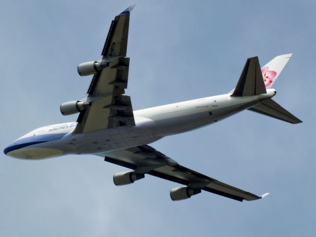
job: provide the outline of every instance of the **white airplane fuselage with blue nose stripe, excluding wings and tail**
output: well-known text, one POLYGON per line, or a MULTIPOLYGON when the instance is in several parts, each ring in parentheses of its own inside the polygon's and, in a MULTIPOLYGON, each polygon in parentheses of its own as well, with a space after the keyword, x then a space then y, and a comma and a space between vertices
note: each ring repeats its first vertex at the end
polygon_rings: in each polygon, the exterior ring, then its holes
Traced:
POLYGON ((40 159, 67 154, 97 154, 149 144, 164 136, 197 129, 253 107, 275 95, 211 96, 134 111, 135 126, 119 126, 73 134, 76 122, 48 125, 20 137, 5 148, 15 158, 40 159))

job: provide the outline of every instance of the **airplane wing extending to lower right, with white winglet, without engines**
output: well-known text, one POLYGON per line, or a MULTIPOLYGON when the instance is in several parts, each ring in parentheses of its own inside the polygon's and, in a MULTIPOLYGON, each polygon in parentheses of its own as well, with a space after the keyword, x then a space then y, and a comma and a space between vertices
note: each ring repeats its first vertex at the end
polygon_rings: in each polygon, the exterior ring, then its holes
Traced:
POLYGON ((238 201, 256 200, 267 195, 259 197, 200 174, 178 164, 175 160, 148 145, 95 155, 105 157, 105 161, 133 169, 136 174, 150 174, 185 185, 199 192, 204 190, 238 201))

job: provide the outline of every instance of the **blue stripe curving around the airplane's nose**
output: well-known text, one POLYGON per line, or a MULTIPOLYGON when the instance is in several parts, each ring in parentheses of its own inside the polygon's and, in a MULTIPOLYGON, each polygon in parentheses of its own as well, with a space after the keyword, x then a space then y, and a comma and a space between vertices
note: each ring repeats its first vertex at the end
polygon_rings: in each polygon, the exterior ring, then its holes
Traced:
POLYGON ((12 142, 9 146, 7 146, 3 153, 6 155, 9 152, 28 147, 35 144, 40 144, 43 142, 50 142, 54 140, 59 140, 63 138, 67 133, 53 133, 53 134, 44 134, 44 135, 36 135, 32 137, 25 137, 12 142))

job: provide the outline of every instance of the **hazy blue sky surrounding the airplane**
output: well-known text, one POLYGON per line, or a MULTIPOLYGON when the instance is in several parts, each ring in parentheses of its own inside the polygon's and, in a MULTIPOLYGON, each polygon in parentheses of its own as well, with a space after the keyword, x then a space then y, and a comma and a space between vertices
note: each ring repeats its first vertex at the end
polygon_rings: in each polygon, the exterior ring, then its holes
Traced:
POLYGON ((178 184, 151 176, 116 187, 126 169, 93 156, 26 161, 0 155, 0 236, 314 236, 315 1, 1 0, 0 148, 47 124, 74 121, 59 105, 85 96, 77 65, 100 58, 111 20, 130 19, 126 94, 133 109, 229 92, 248 57, 293 53, 275 100, 304 123, 242 112, 166 137, 157 150, 261 195, 206 192, 173 202, 178 184))

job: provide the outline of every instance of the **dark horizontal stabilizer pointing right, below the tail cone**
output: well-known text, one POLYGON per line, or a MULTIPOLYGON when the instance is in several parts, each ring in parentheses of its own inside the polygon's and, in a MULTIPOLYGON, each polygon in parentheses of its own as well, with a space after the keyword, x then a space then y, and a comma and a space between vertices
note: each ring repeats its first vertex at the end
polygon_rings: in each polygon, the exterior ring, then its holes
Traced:
POLYGON ((283 109, 279 104, 277 104, 274 100, 269 99, 262 102, 259 105, 256 105, 250 109, 253 112, 257 112, 262 115, 266 115, 272 118, 280 119, 285 122, 290 123, 300 123, 302 122, 300 119, 296 118, 287 110, 283 109))

